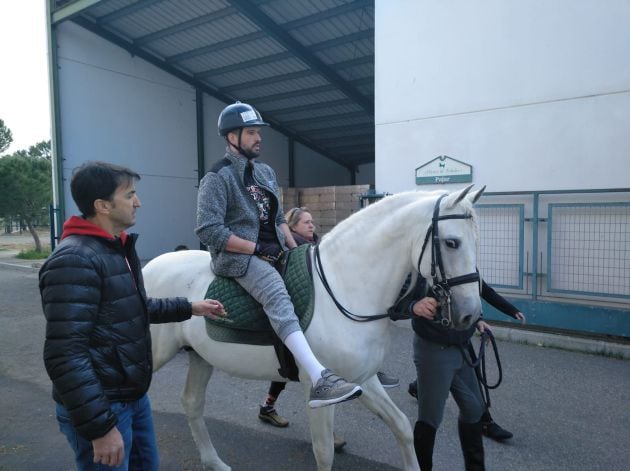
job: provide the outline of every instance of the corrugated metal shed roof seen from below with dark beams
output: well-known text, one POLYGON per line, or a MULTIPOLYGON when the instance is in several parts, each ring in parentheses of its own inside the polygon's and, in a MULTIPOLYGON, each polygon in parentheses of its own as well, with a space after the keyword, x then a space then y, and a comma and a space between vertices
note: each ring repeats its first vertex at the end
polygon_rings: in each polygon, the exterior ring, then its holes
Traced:
POLYGON ((348 168, 374 162, 374 0, 55 4, 85 5, 68 18, 348 168))

